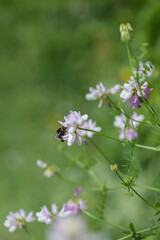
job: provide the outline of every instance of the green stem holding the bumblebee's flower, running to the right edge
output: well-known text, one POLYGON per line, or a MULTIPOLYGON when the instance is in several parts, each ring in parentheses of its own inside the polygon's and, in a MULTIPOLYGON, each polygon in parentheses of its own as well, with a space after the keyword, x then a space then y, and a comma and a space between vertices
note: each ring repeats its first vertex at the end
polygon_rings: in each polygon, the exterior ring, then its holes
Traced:
MULTIPOLYGON (((94 130, 91 130, 91 129, 86 129, 86 128, 78 128, 78 129, 81 129, 81 130, 84 130, 84 131, 89 131, 89 132, 94 132, 94 133, 97 133, 105 138, 108 138, 108 139, 112 139, 114 141, 117 141, 117 142, 121 142, 121 143, 128 143, 127 141, 123 141, 123 140, 119 140, 117 138, 113 138, 113 137, 110 137, 108 135, 105 135, 103 133, 100 133, 100 132, 96 132, 94 130)), ((148 149, 148 150, 153 150, 153 151, 157 151, 159 152, 160 149, 159 148, 155 148, 155 147, 150 147, 150 146, 145 146, 145 145, 141 145, 141 144, 135 144, 136 147, 139 147, 139 148, 145 148, 145 149, 148 149)))

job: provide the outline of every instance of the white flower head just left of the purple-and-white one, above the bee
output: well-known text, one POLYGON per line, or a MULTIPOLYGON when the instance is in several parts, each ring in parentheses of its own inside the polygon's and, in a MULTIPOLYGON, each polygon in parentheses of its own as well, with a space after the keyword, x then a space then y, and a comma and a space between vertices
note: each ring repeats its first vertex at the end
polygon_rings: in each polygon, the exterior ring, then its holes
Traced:
POLYGON ((107 89, 104 87, 104 85, 100 82, 97 84, 96 89, 93 87, 89 88, 90 93, 86 94, 86 99, 91 101, 91 100, 96 100, 100 99, 98 107, 102 107, 103 104, 106 102, 107 97, 112 94, 116 94, 120 92, 120 85, 117 84, 113 88, 107 89))

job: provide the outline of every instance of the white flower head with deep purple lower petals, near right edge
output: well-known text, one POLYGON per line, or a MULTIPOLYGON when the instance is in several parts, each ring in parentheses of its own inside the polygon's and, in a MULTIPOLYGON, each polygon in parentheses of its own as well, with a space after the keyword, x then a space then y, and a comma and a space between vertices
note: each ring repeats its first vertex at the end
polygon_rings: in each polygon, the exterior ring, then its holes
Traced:
POLYGON ((150 98, 149 93, 153 91, 153 88, 148 88, 148 83, 144 82, 141 86, 141 91, 139 89, 138 83, 131 77, 131 80, 128 80, 128 83, 125 83, 121 87, 123 89, 120 97, 123 98, 123 102, 129 101, 129 107, 131 108, 140 108, 142 105, 142 95, 146 99, 150 98))

